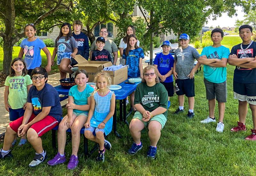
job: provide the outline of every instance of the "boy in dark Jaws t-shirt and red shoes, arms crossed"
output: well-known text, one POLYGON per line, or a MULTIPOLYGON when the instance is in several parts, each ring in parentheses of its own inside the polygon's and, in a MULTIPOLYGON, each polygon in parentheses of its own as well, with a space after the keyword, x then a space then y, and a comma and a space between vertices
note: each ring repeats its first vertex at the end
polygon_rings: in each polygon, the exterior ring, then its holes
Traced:
POLYGON ((245 140, 256 140, 256 42, 251 40, 253 35, 252 26, 242 25, 239 27, 239 35, 242 43, 231 49, 228 64, 236 66, 233 79, 234 98, 238 99, 238 126, 231 131, 245 131, 245 118, 249 103, 252 110, 253 129, 252 134, 245 140))

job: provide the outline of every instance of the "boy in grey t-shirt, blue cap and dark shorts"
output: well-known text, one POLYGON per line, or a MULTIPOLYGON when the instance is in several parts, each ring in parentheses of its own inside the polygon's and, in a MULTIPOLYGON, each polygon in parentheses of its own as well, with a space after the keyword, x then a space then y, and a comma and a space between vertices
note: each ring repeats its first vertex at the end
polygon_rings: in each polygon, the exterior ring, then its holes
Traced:
POLYGON ((188 97, 188 114, 187 117, 192 119, 195 104, 195 79, 194 75, 201 64, 197 63, 194 67, 195 59, 199 58, 196 48, 188 46, 188 34, 180 35, 181 47, 174 52, 173 76, 175 78, 176 94, 179 99, 179 108, 173 114, 184 112, 184 94, 188 97))

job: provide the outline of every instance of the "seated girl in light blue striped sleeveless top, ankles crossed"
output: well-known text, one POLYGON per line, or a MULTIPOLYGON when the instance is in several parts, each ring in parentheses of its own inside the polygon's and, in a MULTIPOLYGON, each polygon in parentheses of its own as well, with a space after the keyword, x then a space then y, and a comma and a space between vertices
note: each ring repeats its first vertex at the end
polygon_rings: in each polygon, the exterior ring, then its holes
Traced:
POLYGON ((105 149, 110 150, 111 144, 105 140, 104 133, 108 135, 112 130, 113 115, 115 112, 115 93, 108 88, 111 77, 106 72, 100 72, 94 78, 96 89, 92 92, 91 107, 87 122, 84 124, 84 136, 99 143, 98 161, 104 161, 105 149), (96 136, 93 135, 95 131, 96 136))

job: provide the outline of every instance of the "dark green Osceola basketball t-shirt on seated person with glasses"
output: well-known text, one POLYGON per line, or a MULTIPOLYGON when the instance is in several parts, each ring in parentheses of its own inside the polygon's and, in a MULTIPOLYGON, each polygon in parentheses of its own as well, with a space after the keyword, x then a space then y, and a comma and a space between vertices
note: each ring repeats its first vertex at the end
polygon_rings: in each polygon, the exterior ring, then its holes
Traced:
MULTIPOLYGON (((146 111, 152 112, 158 107, 168 108, 168 93, 161 83, 149 87, 146 82, 138 84, 134 105, 141 104, 146 111)), ((167 119, 167 111, 163 113, 167 119)))

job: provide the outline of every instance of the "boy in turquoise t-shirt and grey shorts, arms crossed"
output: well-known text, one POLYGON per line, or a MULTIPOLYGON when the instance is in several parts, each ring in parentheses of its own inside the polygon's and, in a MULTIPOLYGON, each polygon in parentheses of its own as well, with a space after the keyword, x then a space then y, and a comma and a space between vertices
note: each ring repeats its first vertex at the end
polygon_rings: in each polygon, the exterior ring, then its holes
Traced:
POLYGON ((224 129, 225 103, 227 102, 227 63, 229 49, 222 46, 224 32, 220 28, 212 30, 213 45, 205 47, 199 57, 199 63, 204 64, 204 85, 208 99, 209 116, 201 123, 216 122, 214 117, 215 99, 218 101, 219 122, 216 131, 224 129))

